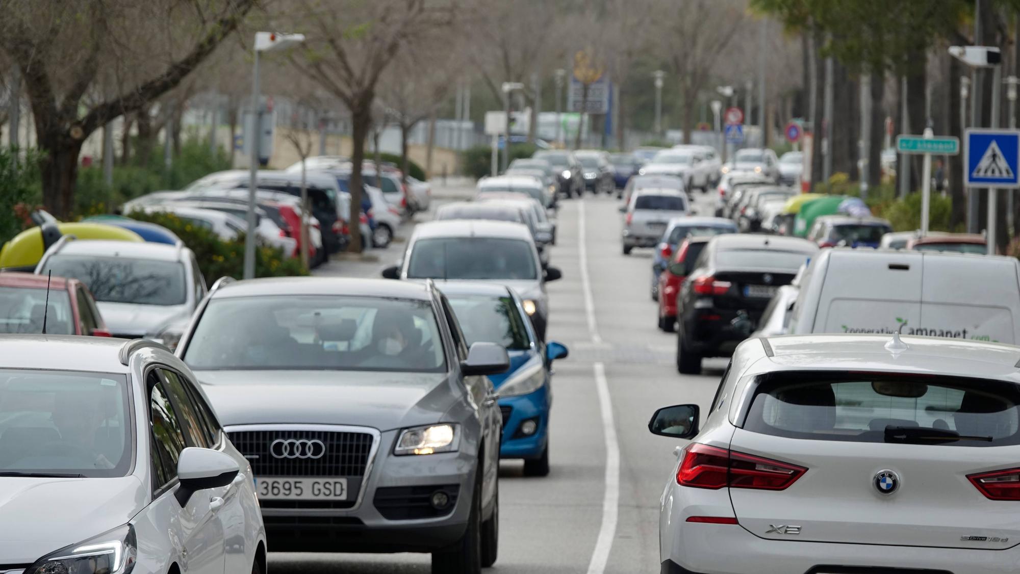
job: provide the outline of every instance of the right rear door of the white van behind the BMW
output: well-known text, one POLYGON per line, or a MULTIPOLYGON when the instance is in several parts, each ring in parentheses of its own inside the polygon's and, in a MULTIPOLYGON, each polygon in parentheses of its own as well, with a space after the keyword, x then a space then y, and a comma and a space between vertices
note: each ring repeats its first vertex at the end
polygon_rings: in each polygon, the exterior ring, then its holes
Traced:
POLYGON ((948 253, 923 257, 921 320, 904 333, 1017 344, 1016 259, 948 253))

